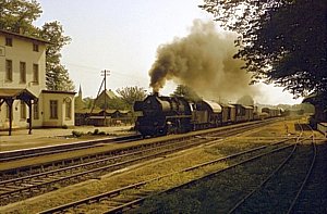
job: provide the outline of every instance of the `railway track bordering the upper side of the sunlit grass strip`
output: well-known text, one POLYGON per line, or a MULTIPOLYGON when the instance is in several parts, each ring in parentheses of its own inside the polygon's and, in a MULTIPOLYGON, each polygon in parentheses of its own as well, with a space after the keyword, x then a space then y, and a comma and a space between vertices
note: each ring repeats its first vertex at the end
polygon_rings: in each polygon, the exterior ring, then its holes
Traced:
MULTIPOLYGON (((256 124, 255 126, 258 126, 256 124)), ((262 126, 262 124, 259 125, 262 126)), ((229 136, 234 135, 235 131, 245 131, 252 129, 251 127, 238 127, 235 129, 228 129, 220 135, 229 136)), ((217 134, 215 134, 217 135, 217 134)), ((141 147, 137 149, 129 149, 128 151, 120 151, 111 153, 110 156, 101 156, 99 160, 90 161, 87 163, 80 163, 72 166, 60 167, 57 169, 49 169, 41 173, 33 173, 26 176, 5 179, 0 181, 0 201, 1 205, 12 203, 15 201, 24 200, 26 198, 41 194, 51 191, 59 187, 69 186, 72 184, 81 182, 86 179, 97 178, 106 173, 117 171, 135 163, 144 162, 158 156, 165 156, 169 153, 185 150, 191 147, 207 143, 213 141, 210 138, 189 137, 187 142, 185 139, 166 140, 156 142, 152 146, 141 147)), ((214 139, 215 141, 216 139, 214 139)), ((12 172, 22 171, 20 168, 12 169, 12 172)))

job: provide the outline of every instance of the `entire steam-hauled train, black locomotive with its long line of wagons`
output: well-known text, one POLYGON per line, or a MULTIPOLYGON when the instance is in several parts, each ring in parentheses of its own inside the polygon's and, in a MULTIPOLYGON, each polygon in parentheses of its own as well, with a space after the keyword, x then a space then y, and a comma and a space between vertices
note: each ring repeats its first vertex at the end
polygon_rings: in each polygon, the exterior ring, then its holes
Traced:
POLYGON ((219 104, 209 100, 189 101, 184 97, 153 93, 134 103, 138 114, 135 129, 143 137, 165 136, 215 128, 228 124, 264 119, 281 115, 277 108, 219 104))

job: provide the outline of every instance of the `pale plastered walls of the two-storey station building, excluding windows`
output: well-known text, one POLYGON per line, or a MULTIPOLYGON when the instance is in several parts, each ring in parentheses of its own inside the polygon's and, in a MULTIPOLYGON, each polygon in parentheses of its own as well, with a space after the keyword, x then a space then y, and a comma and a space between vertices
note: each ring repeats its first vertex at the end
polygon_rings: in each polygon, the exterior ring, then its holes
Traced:
MULTIPOLYGON (((27 89, 38 98, 39 118, 34 119, 32 112, 33 127, 51 126, 61 127, 63 125, 74 126, 74 93, 73 92, 43 92, 46 89, 46 46, 41 41, 29 38, 20 38, 16 36, 8 36, 12 38, 12 47, 5 46, 5 37, 0 33, 0 88, 27 89), (33 43, 38 43, 38 52, 33 51, 33 43), (3 55, 4 53, 4 55, 3 55), (13 77, 12 81, 5 81, 5 60, 12 61, 13 77), (20 83, 20 62, 26 63, 26 83, 20 83), (33 83, 33 64, 38 64, 39 76, 38 84, 33 83), (65 101, 69 99, 72 104, 71 118, 65 118, 65 101), (50 100, 58 100, 58 118, 50 118, 50 100)), ((26 105, 26 118, 21 118, 21 101, 15 100, 13 103, 13 128, 28 127, 27 118, 28 106, 26 105)), ((7 103, 0 108, 0 129, 9 127, 7 118, 7 103)))

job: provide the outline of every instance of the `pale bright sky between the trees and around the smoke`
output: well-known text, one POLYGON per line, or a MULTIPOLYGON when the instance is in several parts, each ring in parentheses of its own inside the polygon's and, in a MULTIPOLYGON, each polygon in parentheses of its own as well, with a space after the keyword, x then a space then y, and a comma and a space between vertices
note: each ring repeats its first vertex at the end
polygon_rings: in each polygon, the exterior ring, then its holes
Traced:
MULTIPOLYGON (((209 22, 213 15, 197 5, 203 0, 38 0, 43 14, 34 23, 59 21, 72 41, 62 49, 62 64, 69 70, 76 91, 95 98, 104 76, 110 71, 107 89, 143 87, 152 92, 148 75, 157 49, 190 34, 194 20, 209 22)), ((217 30, 221 30, 217 26, 217 30)), ((294 104, 282 88, 258 85, 258 103, 294 104)), ((160 90, 170 95, 175 88, 168 81, 160 90)))

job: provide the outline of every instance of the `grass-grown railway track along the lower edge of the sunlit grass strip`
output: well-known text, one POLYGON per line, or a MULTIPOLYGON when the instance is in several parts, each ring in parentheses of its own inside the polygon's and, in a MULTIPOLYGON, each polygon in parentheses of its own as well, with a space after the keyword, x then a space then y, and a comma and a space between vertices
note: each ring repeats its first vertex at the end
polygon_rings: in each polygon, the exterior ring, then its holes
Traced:
MULTIPOLYGON (((109 192, 93 196, 72 203, 63 204, 61 206, 46 210, 40 213, 87 213, 90 210, 97 210, 97 212, 99 213, 125 212, 129 209, 132 209, 141 204, 146 199, 149 199, 154 196, 158 196, 162 192, 177 191, 181 188, 194 186, 198 180, 211 179, 211 177, 218 176, 219 174, 230 168, 234 168, 241 164, 244 164, 246 162, 252 162, 264 155, 268 155, 270 153, 275 153, 280 150, 287 150, 293 147, 293 144, 286 144, 286 141, 289 141, 289 139, 277 141, 268 146, 256 147, 223 158, 219 158, 206 163, 198 164, 196 166, 184 168, 175 173, 170 173, 153 179, 143 180, 137 184, 129 185, 126 187, 111 190, 109 192), (226 162, 231 163, 231 165, 226 167, 225 164, 226 162), (219 169, 208 175, 202 175, 201 172, 203 172, 205 167, 213 167, 213 165, 218 165, 219 169), (190 180, 189 174, 191 173, 192 174, 197 173, 198 175, 195 179, 193 178, 190 180), (175 184, 172 185, 168 181, 165 182, 168 185, 161 185, 164 179, 169 180, 169 179, 173 179, 173 177, 179 177, 179 179, 181 179, 180 182, 182 184, 175 186, 175 184), (156 185, 158 182, 160 185, 156 185), (159 188, 154 188, 154 187, 159 187, 159 188)), ((152 210, 149 212, 156 212, 156 211, 152 210)))

